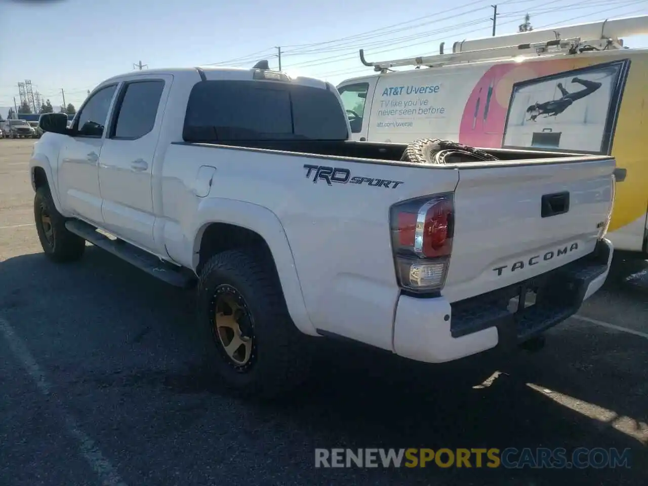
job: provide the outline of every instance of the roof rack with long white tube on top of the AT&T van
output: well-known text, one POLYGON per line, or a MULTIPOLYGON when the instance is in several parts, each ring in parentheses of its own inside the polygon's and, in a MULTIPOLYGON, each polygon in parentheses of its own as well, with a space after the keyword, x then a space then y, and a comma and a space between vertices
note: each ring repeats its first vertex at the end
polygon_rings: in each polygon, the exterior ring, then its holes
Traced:
POLYGON ((392 67, 415 66, 418 69, 421 66, 439 67, 468 62, 510 60, 520 56, 578 54, 585 51, 623 49, 621 36, 645 33, 648 33, 648 15, 590 22, 558 29, 532 30, 499 36, 499 38, 455 42, 452 52, 447 54, 443 52, 445 43, 441 43, 439 54, 434 56, 367 62, 364 49, 360 49, 360 62, 365 66, 373 67, 375 71, 386 73, 392 67), (567 35, 570 37, 567 38, 567 35))

